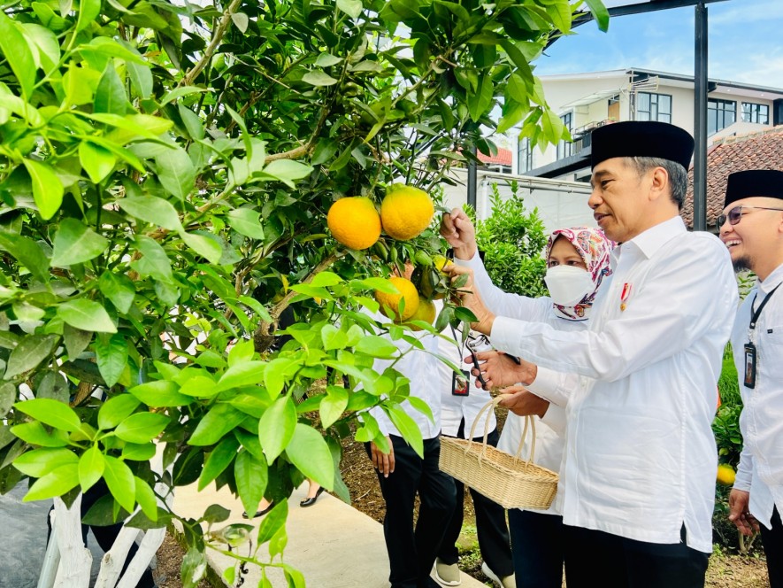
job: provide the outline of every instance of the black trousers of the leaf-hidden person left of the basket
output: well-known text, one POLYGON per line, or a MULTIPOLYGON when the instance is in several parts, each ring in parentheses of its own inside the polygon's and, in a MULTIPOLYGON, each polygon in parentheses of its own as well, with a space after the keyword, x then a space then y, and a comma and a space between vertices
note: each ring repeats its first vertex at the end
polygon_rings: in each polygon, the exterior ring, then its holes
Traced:
MULTIPOLYGON (((425 439, 424 459, 418 457, 403 437, 391 436, 395 450, 395 471, 378 475, 380 491, 386 501, 383 536, 388 552, 392 588, 433 588, 430 577, 435 554, 441 546, 446 523, 454 512, 454 480, 441 472, 438 460, 441 441, 425 439), (413 509, 418 493, 416 527, 413 509)), ((365 444, 370 454, 370 444, 365 444)))

